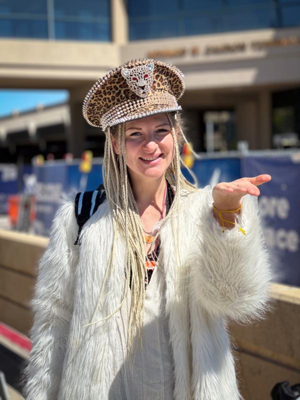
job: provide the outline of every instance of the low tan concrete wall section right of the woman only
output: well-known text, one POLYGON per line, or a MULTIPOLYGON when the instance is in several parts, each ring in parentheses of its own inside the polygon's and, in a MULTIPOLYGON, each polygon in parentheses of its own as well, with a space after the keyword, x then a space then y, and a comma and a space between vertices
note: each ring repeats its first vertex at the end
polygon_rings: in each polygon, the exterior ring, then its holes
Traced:
POLYGON ((270 399, 280 381, 300 382, 300 288, 272 283, 270 296, 262 321, 229 327, 245 400, 270 399))

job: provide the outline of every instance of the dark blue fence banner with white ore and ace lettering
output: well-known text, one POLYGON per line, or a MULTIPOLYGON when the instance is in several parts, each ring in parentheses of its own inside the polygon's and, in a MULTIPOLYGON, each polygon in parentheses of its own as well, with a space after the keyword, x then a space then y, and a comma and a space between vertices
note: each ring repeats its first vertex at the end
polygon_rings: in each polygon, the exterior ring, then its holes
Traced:
POLYGON ((300 160, 295 156, 256 156, 242 159, 242 175, 268 173, 259 186, 259 212, 276 281, 300 286, 300 160))

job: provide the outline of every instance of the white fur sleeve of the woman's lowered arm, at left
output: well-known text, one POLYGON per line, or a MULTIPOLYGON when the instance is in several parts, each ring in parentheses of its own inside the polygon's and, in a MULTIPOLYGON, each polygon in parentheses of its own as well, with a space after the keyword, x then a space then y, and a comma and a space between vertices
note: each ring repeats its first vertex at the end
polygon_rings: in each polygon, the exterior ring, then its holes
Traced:
POLYGON ((24 370, 26 400, 56 400, 72 313, 77 224, 74 205, 55 214, 48 246, 39 261, 30 330, 32 349, 24 370))

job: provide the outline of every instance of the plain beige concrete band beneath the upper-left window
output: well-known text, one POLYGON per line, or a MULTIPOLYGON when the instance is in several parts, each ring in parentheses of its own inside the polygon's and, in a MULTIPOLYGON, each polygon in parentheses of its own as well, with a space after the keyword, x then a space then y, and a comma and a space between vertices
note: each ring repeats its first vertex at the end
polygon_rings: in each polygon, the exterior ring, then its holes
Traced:
POLYGON ((119 64, 114 43, 64 40, 0 40, 0 86, 78 87, 119 64))

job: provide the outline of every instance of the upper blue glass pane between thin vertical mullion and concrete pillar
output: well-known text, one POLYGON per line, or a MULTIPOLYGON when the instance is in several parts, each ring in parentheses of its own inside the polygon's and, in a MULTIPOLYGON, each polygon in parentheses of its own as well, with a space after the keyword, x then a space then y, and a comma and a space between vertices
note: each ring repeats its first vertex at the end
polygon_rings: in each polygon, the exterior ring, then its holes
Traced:
POLYGON ((54 0, 54 15, 109 18, 110 2, 109 0, 54 0))

